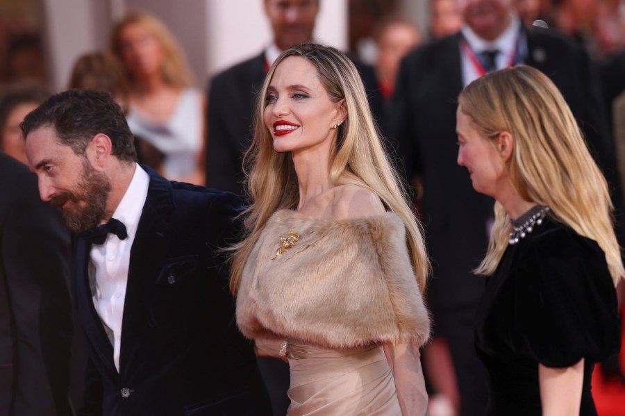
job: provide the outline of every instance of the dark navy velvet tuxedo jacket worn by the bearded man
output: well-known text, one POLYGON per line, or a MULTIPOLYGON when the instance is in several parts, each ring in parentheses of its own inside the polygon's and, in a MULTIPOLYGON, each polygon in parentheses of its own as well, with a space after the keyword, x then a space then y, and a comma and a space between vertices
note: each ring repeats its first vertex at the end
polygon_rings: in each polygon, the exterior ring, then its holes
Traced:
POLYGON ((119 374, 76 236, 76 298, 90 347, 83 415, 264 415, 251 344, 236 327, 226 256, 233 194, 150 176, 131 249, 119 374))

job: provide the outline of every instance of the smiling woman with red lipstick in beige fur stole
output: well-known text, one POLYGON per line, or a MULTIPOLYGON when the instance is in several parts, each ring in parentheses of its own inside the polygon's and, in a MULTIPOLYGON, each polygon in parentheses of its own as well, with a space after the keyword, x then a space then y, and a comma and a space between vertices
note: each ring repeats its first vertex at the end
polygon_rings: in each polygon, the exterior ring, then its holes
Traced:
POLYGON ((245 160, 231 289, 258 354, 290 364, 289 414, 425 414, 422 231, 343 53, 278 57, 245 160))

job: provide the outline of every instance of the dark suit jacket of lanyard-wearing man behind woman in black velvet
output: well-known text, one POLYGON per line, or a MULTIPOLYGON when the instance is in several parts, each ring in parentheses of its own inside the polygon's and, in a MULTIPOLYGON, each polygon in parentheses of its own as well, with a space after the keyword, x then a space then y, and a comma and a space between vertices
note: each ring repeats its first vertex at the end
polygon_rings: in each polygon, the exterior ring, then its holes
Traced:
MULTIPOLYGON (((562 36, 539 28, 526 30, 524 62, 547 74, 564 95, 598 155, 608 179, 615 160, 601 109, 597 78, 584 51, 562 36)), ((401 64, 389 115, 407 178, 424 183, 422 219, 433 258, 428 301, 434 309, 475 304, 483 278, 471 270, 487 249, 486 222, 492 199, 472 188, 467 169, 456 163, 456 108, 462 90, 459 35, 412 51, 401 64)))

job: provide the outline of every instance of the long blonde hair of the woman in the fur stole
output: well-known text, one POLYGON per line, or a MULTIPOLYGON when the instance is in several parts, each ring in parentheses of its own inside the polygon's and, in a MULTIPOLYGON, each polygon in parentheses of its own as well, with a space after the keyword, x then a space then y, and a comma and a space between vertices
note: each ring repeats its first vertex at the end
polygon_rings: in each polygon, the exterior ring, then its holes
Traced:
POLYGON ((424 292, 430 263, 422 227, 408 206, 405 188, 400 185, 399 175, 385 152, 358 70, 343 53, 319 44, 303 44, 281 53, 269 68, 258 95, 255 132, 251 147, 244 156, 245 185, 253 203, 244 212, 246 238, 234 247, 236 252, 230 281, 232 292, 237 292, 243 267, 267 219, 276 210, 294 210, 299 203, 297 175, 291 154, 274 150, 272 135, 263 121, 269 83, 276 67, 290 56, 306 59, 315 66, 319 81, 331 101, 336 103, 345 99, 347 119, 338 128, 336 147, 331 154, 331 181, 334 185, 351 183, 371 190, 387 209, 401 217, 406 226, 412 267, 419 288, 424 292))

